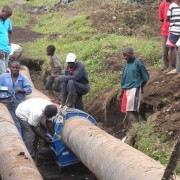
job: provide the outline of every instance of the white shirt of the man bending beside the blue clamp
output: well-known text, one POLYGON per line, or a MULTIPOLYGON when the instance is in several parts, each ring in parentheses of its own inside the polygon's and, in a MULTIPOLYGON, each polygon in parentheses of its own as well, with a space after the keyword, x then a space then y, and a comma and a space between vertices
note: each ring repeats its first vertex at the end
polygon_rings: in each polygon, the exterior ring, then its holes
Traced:
POLYGON ((37 127, 40 123, 45 124, 46 117, 44 110, 47 105, 52 103, 46 99, 32 98, 19 104, 16 109, 16 116, 22 121, 37 127))

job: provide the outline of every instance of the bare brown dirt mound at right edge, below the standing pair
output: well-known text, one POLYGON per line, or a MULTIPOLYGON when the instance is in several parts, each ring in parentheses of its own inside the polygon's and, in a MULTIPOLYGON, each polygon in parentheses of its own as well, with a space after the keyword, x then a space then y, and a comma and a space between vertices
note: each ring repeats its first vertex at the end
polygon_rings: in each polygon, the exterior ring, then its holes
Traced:
POLYGON ((149 83, 144 102, 157 113, 149 117, 168 138, 180 134, 180 75, 161 75, 149 83))

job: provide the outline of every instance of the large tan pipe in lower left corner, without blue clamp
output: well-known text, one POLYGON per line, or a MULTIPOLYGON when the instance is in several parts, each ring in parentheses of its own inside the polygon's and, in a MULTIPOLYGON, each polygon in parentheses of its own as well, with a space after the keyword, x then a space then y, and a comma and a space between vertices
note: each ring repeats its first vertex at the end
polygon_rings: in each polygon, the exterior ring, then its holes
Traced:
POLYGON ((0 179, 42 180, 6 106, 0 103, 0 179))

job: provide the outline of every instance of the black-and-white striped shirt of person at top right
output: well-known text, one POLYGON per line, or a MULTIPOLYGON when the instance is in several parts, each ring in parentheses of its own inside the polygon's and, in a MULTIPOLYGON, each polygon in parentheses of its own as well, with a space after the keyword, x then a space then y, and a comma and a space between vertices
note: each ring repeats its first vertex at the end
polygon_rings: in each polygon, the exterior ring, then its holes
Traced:
POLYGON ((169 32, 180 35, 180 6, 173 2, 169 6, 167 17, 170 18, 169 32))

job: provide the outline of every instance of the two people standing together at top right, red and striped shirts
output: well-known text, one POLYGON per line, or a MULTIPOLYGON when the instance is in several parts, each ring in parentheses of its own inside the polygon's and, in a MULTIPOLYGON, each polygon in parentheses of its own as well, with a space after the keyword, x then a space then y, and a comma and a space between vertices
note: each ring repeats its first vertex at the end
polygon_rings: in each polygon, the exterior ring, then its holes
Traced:
POLYGON ((162 22, 163 71, 176 66, 175 49, 180 37, 180 0, 164 0, 159 6, 158 18, 162 22))

